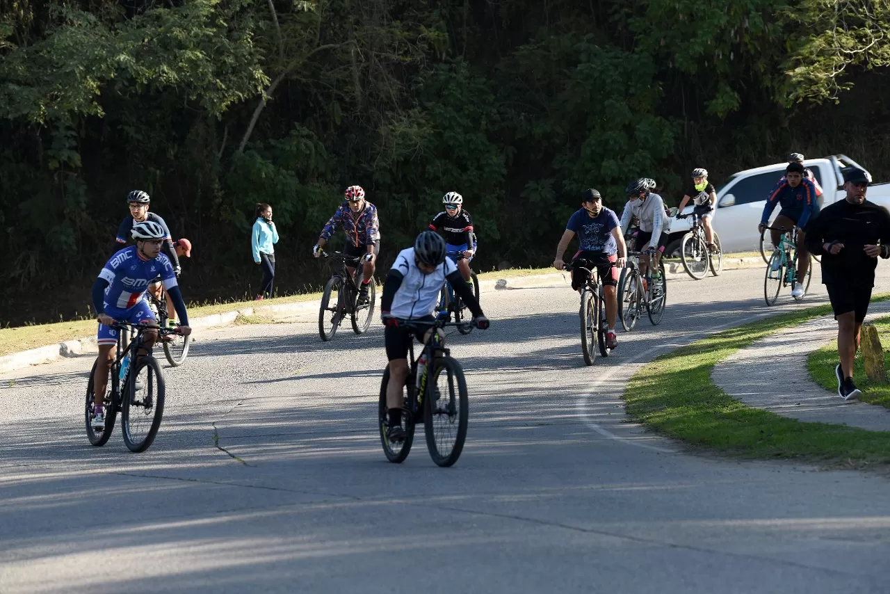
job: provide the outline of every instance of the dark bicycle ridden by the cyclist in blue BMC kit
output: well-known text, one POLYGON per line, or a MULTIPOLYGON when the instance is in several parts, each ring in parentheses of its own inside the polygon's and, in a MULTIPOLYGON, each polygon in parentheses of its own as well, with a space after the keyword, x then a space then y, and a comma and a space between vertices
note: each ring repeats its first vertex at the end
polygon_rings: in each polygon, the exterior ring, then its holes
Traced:
POLYGON ((117 330, 115 360, 111 363, 110 392, 103 396, 105 427, 93 428, 93 403, 95 402, 95 373, 98 361, 93 363, 90 380, 86 385, 86 437, 95 446, 105 445, 114 431, 117 413, 121 413, 121 429, 124 443, 130 452, 145 452, 158 435, 164 415, 164 375, 158 361, 151 354, 138 354, 145 330, 158 330, 159 337, 176 332, 173 328, 150 324, 117 322, 111 326, 117 330), (128 330, 134 338, 125 341, 121 330, 128 330), (128 369, 121 377, 121 366, 129 358, 128 369), (141 378, 144 372, 144 378, 141 378), (157 394, 155 394, 157 392, 157 394), (147 427, 143 427, 147 426, 147 427))

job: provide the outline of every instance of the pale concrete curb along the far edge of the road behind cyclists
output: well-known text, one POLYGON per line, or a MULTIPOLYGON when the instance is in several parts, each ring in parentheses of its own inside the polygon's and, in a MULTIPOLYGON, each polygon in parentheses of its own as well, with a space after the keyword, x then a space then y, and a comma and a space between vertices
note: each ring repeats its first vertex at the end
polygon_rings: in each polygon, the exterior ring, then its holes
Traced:
MULTIPOLYGON (((724 270, 736 270, 741 268, 756 268, 764 266, 764 262, 758 257, 728 258, 724 260, 724 270)), ((668 278, 685 276, 683 264, 676 262, 667 264, 668 278)), ((532 274, 529 276, 516 276, 499 279, 497 281, 479 281, 479 291, 490 293, 506 289, 534 289, 536 287, 568 287, 571 284, 569 273, 532 274)), ((318 309, 319 299, 312 301, 300 301, 298 303, 286 303, 278 305, 256 305, 245 307, 225 313, 214 313, 190 320, 192 328, 213 328, 226 326, 235 321, 239 315, 269 315, 272 313, 299 313, 318 309)), ((7 354, 0 357, 0 373, 12 370, 20 370, 31 365, 41 365, 58 361, 63 357, 77 357, 82 354, 94 354, 98 352, 96 338, 84 337, 66 340, 57 345, 39 346, 20 353, 7 354)))

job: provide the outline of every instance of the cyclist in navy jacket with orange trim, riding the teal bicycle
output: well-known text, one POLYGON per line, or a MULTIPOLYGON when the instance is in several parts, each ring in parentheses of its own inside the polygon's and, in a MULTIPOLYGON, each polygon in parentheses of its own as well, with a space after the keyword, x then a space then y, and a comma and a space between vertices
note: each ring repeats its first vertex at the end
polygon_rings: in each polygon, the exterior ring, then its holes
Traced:
MULTIPOLYGON (((770 192, 770 197, 764 206, 764 213, 760 216, 760 224, 757 225, 757 232, 764 231, 770 220, 770 215, 773 214, 773 209, 779 204, 781 204, 781 210, 772 226, 789 231, 792 227, 797 226, 797 280, 791 289, 791 296, 799 299, 804 297, 803 282, 806 279, 806 271, 810 267, 810 253, 806 249, 804 226, 810 216, 819 214, 816 187, 813 182, 804 178, 804 166, 800 163, 789 163, 785 168, 784 179, 776 184, 776 187, 770 192)), ((776 229, 770 230, 774 246, 779 245, 781 233, 776 229)), ((773 272, 780 268, 781 260, 773 258, 773 272)))

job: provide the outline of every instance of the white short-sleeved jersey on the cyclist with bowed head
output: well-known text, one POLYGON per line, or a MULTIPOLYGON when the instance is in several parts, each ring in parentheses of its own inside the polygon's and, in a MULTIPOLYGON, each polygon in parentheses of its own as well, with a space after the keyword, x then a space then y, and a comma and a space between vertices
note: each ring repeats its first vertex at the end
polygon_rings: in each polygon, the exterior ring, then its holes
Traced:
POLYGON ((396 256, 392 270, 399 271, 404 278, 392 297, 390 313, 403 320, 417 320, 433 315, 445 286, 445 277, 457 272, 457 266, 450 258, 445 258, 445 262, 436 266, 432 273, 422 273, 414 261, 414 248, 408 248, 396 256))

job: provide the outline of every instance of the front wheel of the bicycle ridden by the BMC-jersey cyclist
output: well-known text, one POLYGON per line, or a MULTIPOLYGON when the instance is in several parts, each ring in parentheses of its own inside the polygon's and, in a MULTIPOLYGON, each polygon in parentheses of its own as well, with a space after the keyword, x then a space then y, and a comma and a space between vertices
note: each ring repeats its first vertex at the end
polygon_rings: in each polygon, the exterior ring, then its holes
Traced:
POLYGON ((164 416, 164 376, 158 361, 150 355, 138 358, 130 373, 142 384, 142 389, 131 394, 133 384, 127 379, 121 388, 123 407, 120 424, 124 429, 124 443, 130 452, 145 452, 149 449, 164 416))

